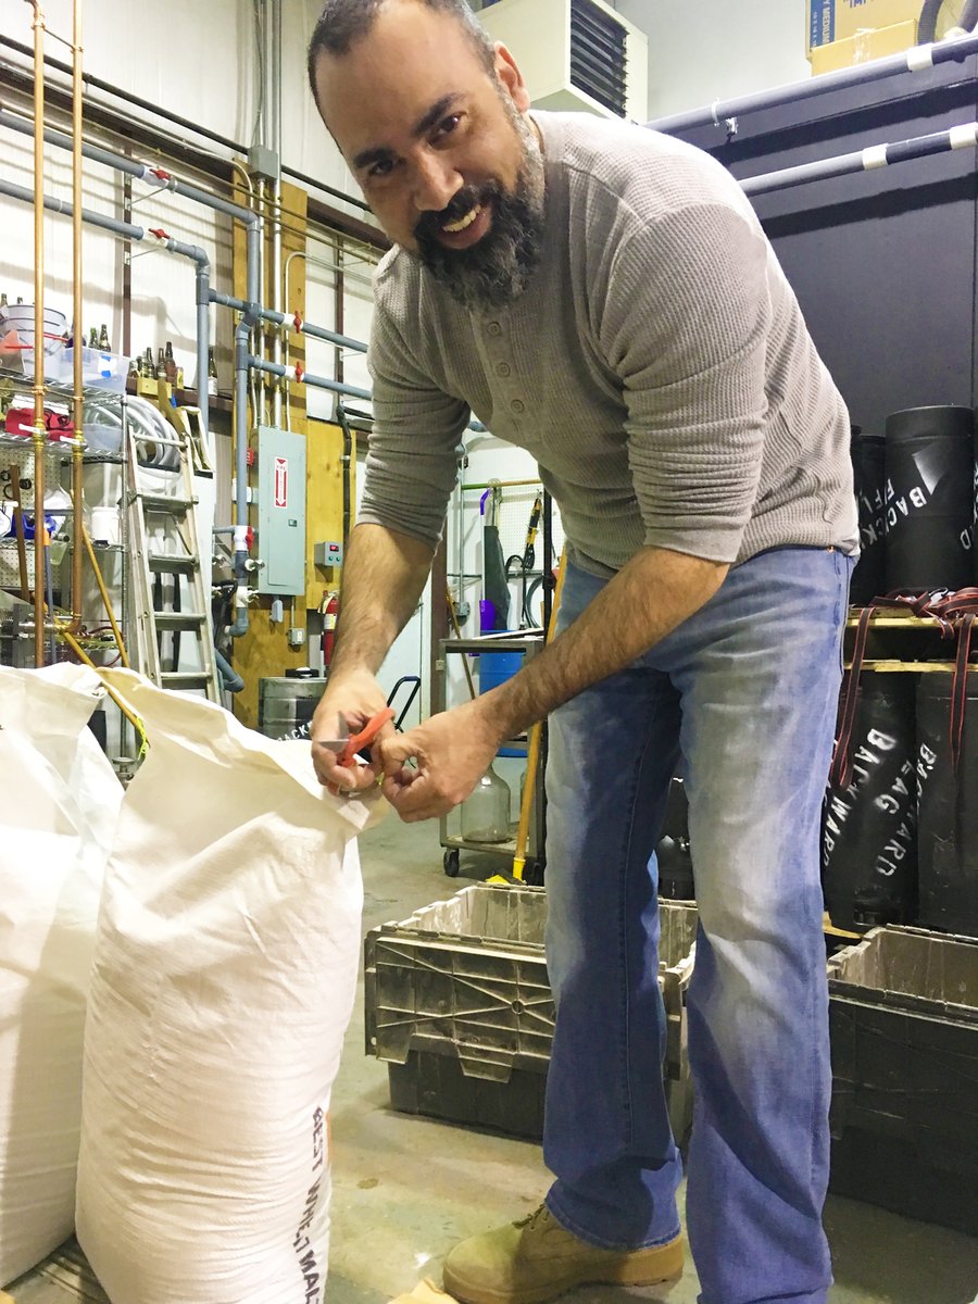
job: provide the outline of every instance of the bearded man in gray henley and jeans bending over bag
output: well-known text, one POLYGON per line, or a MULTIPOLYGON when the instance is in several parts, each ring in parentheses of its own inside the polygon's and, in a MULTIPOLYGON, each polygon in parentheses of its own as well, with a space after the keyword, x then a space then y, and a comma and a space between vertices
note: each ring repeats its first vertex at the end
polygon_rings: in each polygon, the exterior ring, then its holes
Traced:
POLYGON ((679 758, 699 935, 687 1228, 703 1304, 824 1304, 828 999, 819 814, 857 552, 849 420, 750 203, 712 159, 531 112, 464 0, 329 0, 322 119, 395 248, 376 279, 374 428, 313 738, 363 724, 415 610, 475 413, 528 449, 569 565, 553 644, 325 784, 404 820, 462 802, 550 720, 557 1024, 528 1219, 446 1290, 542 1304, 682 1267, 662 1094, 653 848, 679 758))

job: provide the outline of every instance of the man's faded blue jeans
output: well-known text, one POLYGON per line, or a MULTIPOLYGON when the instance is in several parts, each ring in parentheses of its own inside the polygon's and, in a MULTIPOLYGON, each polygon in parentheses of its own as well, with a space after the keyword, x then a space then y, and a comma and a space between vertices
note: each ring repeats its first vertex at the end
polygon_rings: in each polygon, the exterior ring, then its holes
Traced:
MULTIPOLYGON (((687 1224, 702 1304, 823 1304, 828 994, 819 820, 853 561, 784 548, 550 721, 550 1211, 605 1248, 672 1240, 653 848, 683 760, 699 931, 687 1224)), ((571 567, 566 627, 604 582, 571 567)))

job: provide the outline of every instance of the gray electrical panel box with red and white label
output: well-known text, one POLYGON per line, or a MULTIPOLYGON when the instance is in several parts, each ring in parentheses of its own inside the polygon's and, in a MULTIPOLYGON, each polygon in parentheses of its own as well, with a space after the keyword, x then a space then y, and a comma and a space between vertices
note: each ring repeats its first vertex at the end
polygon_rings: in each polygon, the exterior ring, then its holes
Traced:
POLYGON ((258 428, 259 593, 305 593, 305 438, 258 428))

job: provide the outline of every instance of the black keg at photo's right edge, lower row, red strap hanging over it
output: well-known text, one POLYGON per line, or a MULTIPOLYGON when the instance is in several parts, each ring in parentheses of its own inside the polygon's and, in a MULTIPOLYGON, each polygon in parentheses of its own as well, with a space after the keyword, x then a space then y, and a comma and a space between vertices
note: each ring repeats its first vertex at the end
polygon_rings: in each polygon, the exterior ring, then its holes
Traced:
POLYGON ((919 922, 978 936, 978 666, 969 674, 957 775, 951 764, 949 672, 921 675, 917 690, 919 922))

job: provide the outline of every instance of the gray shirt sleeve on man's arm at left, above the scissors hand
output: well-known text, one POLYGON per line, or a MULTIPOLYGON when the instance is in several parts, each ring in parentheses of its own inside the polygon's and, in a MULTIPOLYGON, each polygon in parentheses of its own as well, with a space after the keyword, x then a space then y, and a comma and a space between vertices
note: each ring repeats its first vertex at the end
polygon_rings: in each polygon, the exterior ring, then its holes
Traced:
POLYGON ((469 408, 437 387, 378 305, 368 366, 374 424, 357 522, 386 526, 437 546, 458 479, 469 408))

